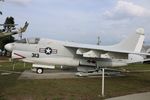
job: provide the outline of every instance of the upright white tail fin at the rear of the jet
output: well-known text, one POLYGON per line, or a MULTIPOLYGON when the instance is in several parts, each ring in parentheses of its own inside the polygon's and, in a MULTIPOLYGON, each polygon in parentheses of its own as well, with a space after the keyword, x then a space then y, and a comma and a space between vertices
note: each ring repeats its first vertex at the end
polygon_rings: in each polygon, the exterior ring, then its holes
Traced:
POLYGON ((144 42, 144 29, 138 28, 136 33, 131 34, 128 38, 114 45, 114 48, 132 52, 141 52, 144 42))

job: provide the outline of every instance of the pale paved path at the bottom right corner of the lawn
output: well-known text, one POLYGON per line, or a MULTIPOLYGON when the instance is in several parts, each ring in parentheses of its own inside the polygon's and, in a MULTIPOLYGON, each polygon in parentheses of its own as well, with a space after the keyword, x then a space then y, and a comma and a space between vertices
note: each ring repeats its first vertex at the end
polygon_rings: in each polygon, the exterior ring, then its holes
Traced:
POLYGON ((114 97, 105 100, 150 100, 150 92, 114 97))

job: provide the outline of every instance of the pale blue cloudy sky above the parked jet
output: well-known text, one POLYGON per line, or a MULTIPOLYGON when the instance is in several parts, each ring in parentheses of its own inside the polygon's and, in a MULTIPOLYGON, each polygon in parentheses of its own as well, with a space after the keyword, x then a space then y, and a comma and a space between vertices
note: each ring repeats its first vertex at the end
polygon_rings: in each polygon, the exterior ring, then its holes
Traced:
MULTIPOLYGON (((13 16, 16 24, 29 27, 23 37, 115 44, 145 29, 150 43, 150 0, 5 0, 0 2, 0 23, 13 16)), ((18 38, 18 36, 15 36, 18 38)))

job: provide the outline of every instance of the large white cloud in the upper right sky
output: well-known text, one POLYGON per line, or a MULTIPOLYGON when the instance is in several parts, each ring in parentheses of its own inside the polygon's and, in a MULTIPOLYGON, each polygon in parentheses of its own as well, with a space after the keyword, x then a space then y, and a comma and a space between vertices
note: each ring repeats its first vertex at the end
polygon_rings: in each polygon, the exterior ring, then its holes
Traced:
POLYGON ((110 19, 147 17, 150 16, 150 11, 142 6, 133 4, 132 2, 119 0, 112 10, 105 11, 104 16, 110 19))

